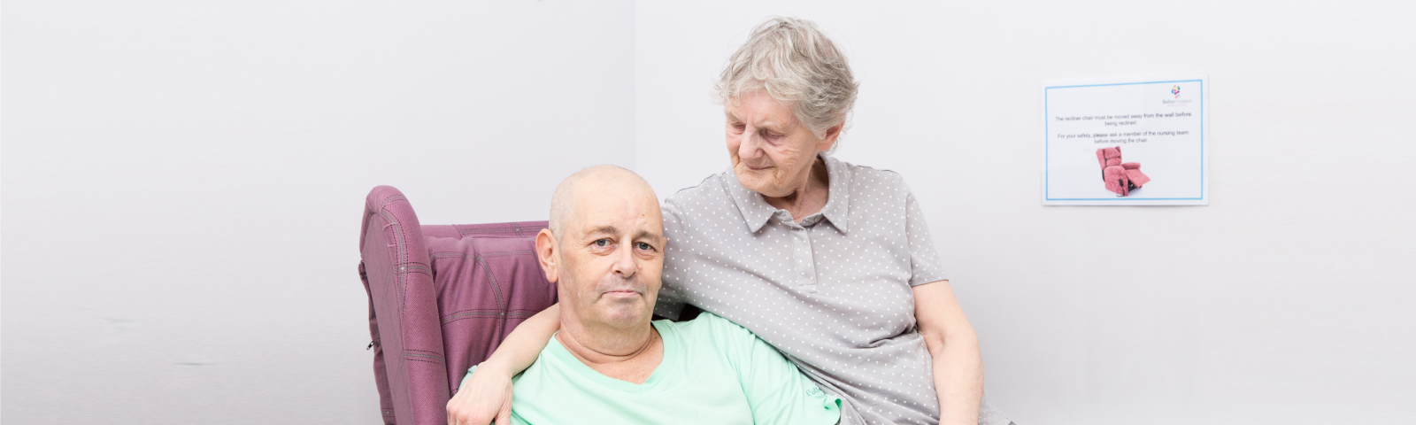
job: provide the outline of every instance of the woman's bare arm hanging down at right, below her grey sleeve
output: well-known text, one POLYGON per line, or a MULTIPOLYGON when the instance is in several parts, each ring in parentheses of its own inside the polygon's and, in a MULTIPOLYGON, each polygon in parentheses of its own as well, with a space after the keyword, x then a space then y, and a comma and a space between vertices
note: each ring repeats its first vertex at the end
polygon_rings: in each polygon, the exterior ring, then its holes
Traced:
POLYGON ((978 337, 949 280, 915 286, 915 322, 933 358, 939 424, 977 425, 983 400, 978 337))

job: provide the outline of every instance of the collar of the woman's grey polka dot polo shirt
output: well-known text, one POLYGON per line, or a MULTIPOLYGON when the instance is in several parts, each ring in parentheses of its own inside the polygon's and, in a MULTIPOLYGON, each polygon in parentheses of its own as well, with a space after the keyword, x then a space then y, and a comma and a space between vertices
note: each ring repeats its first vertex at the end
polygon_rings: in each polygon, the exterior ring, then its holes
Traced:
MULTIPOLYGON (((820 214, 844 234, 850 225, 851 176, 845 171, 845 166, 840 160, 821 153, 817 153, 817 156, 826 162, 826 173, 831 178, 831 181, 827 181, 826 207, 821 207, 820 214)), ((772 220, 777 208, 767 204, 762 198, 762 194, 743 187, 738 181, 738 173, 733 173, 731 166, 726 174, 728 193, 732 196, 733 203, 738 204, 738 211, 742 211, 742 218, 746 221, 748 230, 758 232, 767 224, 767 220, 772 220)))

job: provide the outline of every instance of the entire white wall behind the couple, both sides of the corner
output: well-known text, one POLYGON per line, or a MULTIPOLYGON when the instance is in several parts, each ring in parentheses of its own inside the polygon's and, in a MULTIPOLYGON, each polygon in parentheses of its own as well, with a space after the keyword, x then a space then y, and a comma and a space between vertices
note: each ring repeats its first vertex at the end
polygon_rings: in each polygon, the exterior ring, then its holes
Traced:
POLYGON ((375 424, 368 188, 668 196, 726 166, 709 81, 767 14, 845 45, 838 156, 910 181, 1020 424, 1410 414, 1409 4, 7 1, 0 419, 375 424), (1214 85, 1212 205, 1038 205, 1038 82, 1174 71, 1214 85))

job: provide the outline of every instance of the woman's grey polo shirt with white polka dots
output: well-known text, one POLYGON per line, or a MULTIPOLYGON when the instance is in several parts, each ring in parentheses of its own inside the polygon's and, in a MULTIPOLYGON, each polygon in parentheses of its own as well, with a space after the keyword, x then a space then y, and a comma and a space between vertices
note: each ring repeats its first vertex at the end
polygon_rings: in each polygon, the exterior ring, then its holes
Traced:
MULTIPOLYGON (((899 174, 823 159, 826 207, 800 224, 732 169, 670 197, 656 313, 688 303, 752 330, 847 402, 841 424, 937 424, 910 288, 946 278, 923 212, 899 174)), ((1008 419, 986 397, 980 424, 1008 419)))

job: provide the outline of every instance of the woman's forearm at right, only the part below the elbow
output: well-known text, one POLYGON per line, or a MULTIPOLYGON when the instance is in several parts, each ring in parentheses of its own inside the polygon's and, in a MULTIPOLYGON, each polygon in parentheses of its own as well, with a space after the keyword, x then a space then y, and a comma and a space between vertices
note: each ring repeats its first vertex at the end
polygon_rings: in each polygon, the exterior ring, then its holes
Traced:
POLYGON ((973 333, 943 337, 933 357, 935 391, 939 392, 939 424, 977 425, 983 400, 983 360, 973 333), (936 353, 937 351, 937 353, 936 353))

